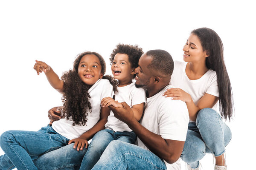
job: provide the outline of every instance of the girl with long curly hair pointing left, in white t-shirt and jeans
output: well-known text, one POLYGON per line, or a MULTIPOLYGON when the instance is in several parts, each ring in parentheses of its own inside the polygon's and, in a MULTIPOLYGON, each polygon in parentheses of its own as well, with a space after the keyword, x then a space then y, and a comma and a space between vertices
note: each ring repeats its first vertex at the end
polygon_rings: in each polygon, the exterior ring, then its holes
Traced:
POLYGON ((59 79, 49 65, 36 60, 34 69, 38 75, 44 71, 52 87, 63 94, 65 118, 38 132, 10 130, 3 133, 0 145, 6 154, 0 157, 0 169, 15 166, 18 170, 37 170, 32 160, 43 153, 72 142, 78 149, 87 147, 87 141, 104 129, 110 113, 108 108, 100 106, 103 98, 113 96, 114 82, 110 76, 103 76, 105 68, 102 56, 88 51, 80 54, 73 70, 59 79))

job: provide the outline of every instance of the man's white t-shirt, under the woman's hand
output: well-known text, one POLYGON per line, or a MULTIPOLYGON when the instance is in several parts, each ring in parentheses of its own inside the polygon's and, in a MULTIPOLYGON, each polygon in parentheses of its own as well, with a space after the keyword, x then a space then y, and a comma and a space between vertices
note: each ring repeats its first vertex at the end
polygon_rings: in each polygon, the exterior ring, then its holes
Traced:
MULTIPOLYGON (((140 120, 141 125, 163 139, 185 141, 189 123, 189 112, 186 103, 181 100, 172 100, 162 94, 172 85, 167 85, 162 91, 146 99, 144 115, 140 120)), ((148 147, 137 137, 136 144, 146 150, 148 147)), ((173 164, 165 161, 167 170, 180 169, 179 160, 173 164)))

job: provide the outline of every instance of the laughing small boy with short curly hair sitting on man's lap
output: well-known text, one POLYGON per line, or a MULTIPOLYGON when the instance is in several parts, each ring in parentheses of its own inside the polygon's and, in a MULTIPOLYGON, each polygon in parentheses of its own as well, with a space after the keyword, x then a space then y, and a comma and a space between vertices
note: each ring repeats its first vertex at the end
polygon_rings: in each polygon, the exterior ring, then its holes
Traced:
MULTIPOLYGON (((137 121, 143 114, 145 91, 143 88, 136 88, 132 80, 135 77, 135 68, 138 67, 142 54, 142 48, 138 48, 137 45, 116 45, 110 58, 112 74, 115 79, 118 79, 118 92, 115 93, 116 101, 111 97, 106 97, 101 102, 104 108, 108 108, 109 105, 122 108, 120 102, 126 102, 131 107, 137 121)), ((92 169, 111 141, 120 140, 134 144, 136 140, 135 133, 128 125, 114 117, 112 111, 105 127, 105 130, 101 130, 93 136, 80 170, 92 169)))

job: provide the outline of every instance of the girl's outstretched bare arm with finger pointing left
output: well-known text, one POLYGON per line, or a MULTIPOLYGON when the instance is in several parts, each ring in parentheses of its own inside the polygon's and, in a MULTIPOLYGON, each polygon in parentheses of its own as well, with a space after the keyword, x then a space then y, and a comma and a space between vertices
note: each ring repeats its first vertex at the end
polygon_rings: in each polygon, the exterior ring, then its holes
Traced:
POLYGON ((47 80, 50 85, 52 85, 55 90, 60 93, 63 93, 64 82, 58 77, 58 75, 52 70, 52 68, 47 65, 45 62, 35 60, 34 69, 39 75, 42 71, 45 73, 47 80))

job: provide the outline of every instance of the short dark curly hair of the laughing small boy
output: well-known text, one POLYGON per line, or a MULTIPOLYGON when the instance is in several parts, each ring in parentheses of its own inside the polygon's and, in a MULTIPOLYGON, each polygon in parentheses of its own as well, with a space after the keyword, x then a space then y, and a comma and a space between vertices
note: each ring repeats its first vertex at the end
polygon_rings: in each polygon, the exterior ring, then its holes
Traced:
MULTIPOLYGON (((112 64, 115 55, 119 54, 127 54, 129 62, 131 63, 131 68, 137 68, 139 65, 140 56, 143 54, 143 49, 138 45, 128 45, 128 44, 118 44, 116 48, 113 49, 112 54, 110 54, 110 63, 112 64)), ((134 74, 134 77, 136 74, 134 74)))

